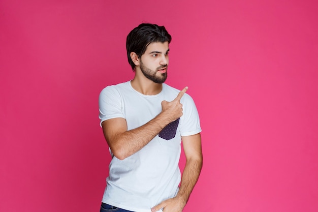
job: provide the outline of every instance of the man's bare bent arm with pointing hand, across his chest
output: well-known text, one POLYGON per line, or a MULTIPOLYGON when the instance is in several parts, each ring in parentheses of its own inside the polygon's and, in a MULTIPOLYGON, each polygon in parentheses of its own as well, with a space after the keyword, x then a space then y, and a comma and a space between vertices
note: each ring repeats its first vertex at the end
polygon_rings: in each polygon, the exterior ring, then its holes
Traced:
POLYGON ((186 92, 183 88, 176 99, 171 102, 162 102, 162 112, 148 123, 136 129, 127 129, 124 118, 111 118, 102 123, 105 139, 114 154, 123 160, 147 145, 164 127, 182 116, 180 99, 186 92))

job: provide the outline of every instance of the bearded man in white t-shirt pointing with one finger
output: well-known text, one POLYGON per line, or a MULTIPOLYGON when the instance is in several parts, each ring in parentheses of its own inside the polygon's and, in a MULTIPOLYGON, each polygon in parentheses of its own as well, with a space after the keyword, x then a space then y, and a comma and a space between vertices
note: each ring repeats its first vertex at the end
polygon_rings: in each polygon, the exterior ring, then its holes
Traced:
POLYGON ((112 156, 101 211, 180 212, 198 180, 202 151, 196 106, 185 94, 187 87, 180 91, 164 83, 170 41, 164 26, 134 28, 126 40, 134 79, 100 94, 99 117, 112 156))

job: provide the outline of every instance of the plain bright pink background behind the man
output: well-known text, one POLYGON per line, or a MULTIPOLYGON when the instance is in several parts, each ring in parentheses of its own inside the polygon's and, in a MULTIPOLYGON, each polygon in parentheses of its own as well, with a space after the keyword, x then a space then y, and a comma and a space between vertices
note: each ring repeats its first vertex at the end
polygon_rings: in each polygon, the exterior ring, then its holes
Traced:
POLYGON ((98 96, 134 76, 125 38, 141 22, 167 27, 167 83, 189 86, 201 117, 204 167, 184 212, 318 211, 317 11, 1 0, 0 211, 99 211, 110 156, 98 96))

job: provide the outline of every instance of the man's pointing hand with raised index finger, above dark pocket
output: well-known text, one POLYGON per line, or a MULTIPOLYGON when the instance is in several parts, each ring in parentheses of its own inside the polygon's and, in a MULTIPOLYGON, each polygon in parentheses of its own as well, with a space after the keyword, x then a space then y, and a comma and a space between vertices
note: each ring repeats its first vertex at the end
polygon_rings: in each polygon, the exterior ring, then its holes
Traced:
MULTIPOLYGON (((185 94, 188 87, 184 87, 178 94, 178 96, 171 102, 162 101, 162 113, 165 114, 165 116, 170 119, 170 122, 173 122, 177 118, 182 116, 182 104, 180 103, 180 100, 182 96, 185 94)), ((169 123, 170 123, 169 122, 169 123)))

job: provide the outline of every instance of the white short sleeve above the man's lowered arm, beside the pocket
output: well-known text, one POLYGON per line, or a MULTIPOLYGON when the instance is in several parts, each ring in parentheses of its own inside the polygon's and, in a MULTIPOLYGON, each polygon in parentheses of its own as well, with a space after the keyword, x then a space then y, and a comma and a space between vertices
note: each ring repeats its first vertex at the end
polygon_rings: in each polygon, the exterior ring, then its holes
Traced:
POLYGON ((180 117, 180 134, 189 136, 200 133, 200 118, 195 102, 188 94, 184 94, 181 99, 183 115, 180 117))

